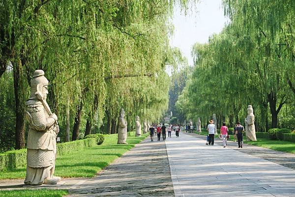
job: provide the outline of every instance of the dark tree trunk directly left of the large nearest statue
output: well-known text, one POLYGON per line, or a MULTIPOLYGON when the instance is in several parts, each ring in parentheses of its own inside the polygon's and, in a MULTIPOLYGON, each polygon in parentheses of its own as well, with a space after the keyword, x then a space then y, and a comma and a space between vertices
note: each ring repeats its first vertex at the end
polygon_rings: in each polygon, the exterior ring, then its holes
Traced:
POLYGON ((13 62, 13 84, 15 95, 15 149, 25 147, 25 84, 23 64, 20 59, 13 62))

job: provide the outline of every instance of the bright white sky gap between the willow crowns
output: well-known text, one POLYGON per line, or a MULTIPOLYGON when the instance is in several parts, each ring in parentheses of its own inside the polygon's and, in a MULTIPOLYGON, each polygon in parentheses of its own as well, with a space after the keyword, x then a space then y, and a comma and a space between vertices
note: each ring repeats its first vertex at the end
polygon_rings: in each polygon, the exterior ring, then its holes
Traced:
POLYGON ((185 16, 179 6, 174 10, 174 35, 170 45, 178 47, 183 56, 193 65, 191 47, 196 42, 206 43, 213 33, 219 33, 228 22, 224 16, 222 0, 200 0, 196 10, 189 10, 185 16))

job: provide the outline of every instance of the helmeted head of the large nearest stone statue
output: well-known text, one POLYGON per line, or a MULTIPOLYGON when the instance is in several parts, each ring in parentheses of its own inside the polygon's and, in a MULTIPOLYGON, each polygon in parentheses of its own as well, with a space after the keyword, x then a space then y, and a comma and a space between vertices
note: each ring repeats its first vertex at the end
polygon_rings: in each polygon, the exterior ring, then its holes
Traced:
MULTIPOLYGON (((48 94, 48 80, 44 77, 43 70, 35 70, 33 73, 33 79, 31 80, 31 98, 42 97, 44 100, 48 94)), ((38 98, 40 99, 40 98, 38 98)))

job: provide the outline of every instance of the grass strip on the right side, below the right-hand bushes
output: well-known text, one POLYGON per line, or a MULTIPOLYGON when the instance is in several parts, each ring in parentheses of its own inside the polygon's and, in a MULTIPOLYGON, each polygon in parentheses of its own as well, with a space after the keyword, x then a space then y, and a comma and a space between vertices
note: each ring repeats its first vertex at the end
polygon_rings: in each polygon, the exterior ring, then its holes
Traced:
POLYGON ((291 141, 275 141, 266 139, 257 139, 257 141, 244 141, 244 143, 261 146, 273 150, 279 150, 289 153, 295 153, 295 143, 291 141))

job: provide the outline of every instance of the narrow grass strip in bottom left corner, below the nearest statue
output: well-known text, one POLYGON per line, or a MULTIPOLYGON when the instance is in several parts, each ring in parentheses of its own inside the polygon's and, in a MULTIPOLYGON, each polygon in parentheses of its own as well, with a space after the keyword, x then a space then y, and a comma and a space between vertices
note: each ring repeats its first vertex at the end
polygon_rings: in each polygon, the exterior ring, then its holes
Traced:
POLYGON ((0 197, 63 197, 65 195, 68 195, 67 190, 34 189, 0 191, 0 197))

